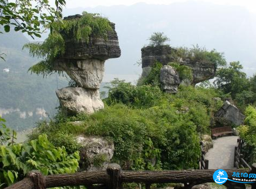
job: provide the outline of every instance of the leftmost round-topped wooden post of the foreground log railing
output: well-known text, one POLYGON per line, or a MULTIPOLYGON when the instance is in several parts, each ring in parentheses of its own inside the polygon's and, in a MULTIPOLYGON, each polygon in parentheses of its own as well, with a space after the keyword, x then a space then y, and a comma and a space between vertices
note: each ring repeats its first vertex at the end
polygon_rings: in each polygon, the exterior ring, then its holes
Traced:
POLYGON ((30 178, 33 182, 35 189, 45 189, 46 183, 43 174, 40 171, 34 170, 29 172, 26 177, 30 178))

